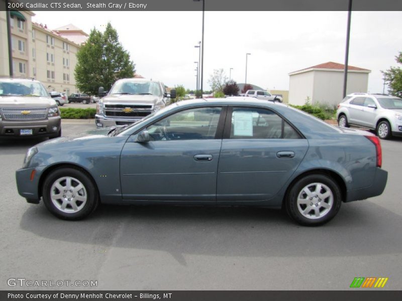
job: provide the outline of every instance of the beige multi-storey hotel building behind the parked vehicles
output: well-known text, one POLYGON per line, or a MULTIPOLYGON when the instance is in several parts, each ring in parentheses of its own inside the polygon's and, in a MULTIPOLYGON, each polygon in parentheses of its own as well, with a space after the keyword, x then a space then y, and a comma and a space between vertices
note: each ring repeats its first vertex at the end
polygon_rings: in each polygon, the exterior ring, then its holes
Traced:
MULTIPOLYGON (((75 86, 76 53, 88 34, 69 24, 50 30, 33 23, 31 11, 11 11, 13 76, 32 77, 48 91, 79 92, 75 86)), ((10 76, 7 12, 0 11, 0 76, 10 76)))

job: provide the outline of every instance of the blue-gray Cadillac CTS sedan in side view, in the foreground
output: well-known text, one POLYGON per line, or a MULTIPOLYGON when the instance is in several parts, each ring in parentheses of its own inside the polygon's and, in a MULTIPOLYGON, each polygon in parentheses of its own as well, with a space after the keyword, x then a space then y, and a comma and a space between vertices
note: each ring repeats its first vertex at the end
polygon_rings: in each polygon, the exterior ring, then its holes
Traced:
POLYGON ((29 203, 88 216, 99 203, 284 207, 303 225, 342 202, 380 195, 378 137, 283 104, 233 97, 181 101, 139 122, 31 147, 17 171, 29 203))

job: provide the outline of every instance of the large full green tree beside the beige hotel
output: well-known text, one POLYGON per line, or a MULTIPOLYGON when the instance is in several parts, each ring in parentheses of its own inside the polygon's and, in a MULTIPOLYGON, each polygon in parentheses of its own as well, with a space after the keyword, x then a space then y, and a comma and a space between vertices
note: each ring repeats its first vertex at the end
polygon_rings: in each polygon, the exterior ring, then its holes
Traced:
POLYGON ((78 89, 95 95, 100 86, 109 90, 116 80, 134 77, 134 73, 135 64, 112 25, 108 23, 104 33, 92 29, 77 52, 74 74, 78 89))

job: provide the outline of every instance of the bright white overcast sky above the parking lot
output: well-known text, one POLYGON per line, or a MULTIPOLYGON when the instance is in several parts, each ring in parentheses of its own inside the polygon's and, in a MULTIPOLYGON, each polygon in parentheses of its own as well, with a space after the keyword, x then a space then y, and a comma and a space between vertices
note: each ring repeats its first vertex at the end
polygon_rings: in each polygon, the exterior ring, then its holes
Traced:
MULTIPOLYGON (((136 63, 137 72, 168 86, 195 87, 194 61, 202 12, 35 12, 49 28, 73 23, 85 32, 107 22, 136 63)), ((401 12, 352 12, 349 64, 372 70, 369 91, 382 92, 382 74, 402 51, 401 12)), ((238 82, 288 89, 288 73, 344 62, 347 12, 206 12, 204 89, 214 69, 238 82)))

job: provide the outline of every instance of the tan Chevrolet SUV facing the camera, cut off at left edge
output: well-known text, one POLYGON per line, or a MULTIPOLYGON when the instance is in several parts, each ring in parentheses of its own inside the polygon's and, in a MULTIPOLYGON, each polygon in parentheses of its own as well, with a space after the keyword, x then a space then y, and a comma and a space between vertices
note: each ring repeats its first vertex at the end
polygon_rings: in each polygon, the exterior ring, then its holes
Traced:
POLYGON ((0 78, 0 136, 61 136, 60 110, 41 82, 0 78))

